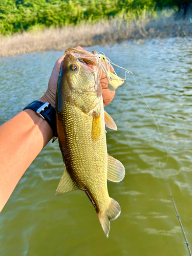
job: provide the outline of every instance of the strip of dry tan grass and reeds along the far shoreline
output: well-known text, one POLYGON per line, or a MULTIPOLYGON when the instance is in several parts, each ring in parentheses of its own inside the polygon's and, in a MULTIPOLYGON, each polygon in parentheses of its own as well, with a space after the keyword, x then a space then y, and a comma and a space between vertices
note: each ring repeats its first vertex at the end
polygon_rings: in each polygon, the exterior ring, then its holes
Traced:
POLYGON ((115 44, 124 40, 192 36, 189 17, 174 18, 172 13, 143 10, 96 24, 43 29, 40 25, 22 34, 0 37, 0 57, 75 46, 115 44))

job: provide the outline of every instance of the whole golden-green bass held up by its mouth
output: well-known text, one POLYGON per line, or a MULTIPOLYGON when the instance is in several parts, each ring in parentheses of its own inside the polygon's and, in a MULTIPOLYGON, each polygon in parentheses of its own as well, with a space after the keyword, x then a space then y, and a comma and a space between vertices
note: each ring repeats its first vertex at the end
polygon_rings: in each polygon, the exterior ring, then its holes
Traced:
POLYGON ((108 193, 107 180, 124 178, 123 164, 110 156, 105 125, 117 130, 104 111, 98 58, 89 52, 69 48, 60 66, 56 91, 56 123, 64 172, 56 195, 83 190, 95 207, 106 237, 110 221, 121 208, 108 193))

